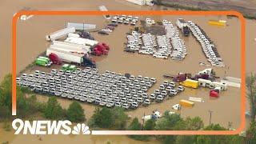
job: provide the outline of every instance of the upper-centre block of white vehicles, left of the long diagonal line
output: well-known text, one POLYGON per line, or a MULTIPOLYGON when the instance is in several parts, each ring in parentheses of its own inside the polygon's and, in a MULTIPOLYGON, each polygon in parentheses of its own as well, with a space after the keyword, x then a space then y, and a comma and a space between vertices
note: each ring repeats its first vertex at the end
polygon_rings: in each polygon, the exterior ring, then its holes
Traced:
MULTIPOLYGON (((154 20, 146 18, 146 24, 154 24, 154 20)), ((165 35, 153 35, 150 33, 139 34, 133 31, 127 35, 127 45, 125 51, 139 54, 153 55, 154 58, 165 58, 169 56, 175 60, 182 60, 186 56, 185 42, 179 38, 179 31, 167 20, 162 21, 165 27, 165 35)))

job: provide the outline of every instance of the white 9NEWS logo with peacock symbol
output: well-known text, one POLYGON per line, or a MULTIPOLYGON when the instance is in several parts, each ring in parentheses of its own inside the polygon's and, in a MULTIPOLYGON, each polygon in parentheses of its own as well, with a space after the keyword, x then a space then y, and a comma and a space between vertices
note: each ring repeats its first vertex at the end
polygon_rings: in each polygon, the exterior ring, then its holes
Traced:
POLYGON ((14 119, 12 126, 14 134, 90 134, 89 126, 84 123, 78 123, 71 128, 72 122, 65 121, 22 121, 14 119))

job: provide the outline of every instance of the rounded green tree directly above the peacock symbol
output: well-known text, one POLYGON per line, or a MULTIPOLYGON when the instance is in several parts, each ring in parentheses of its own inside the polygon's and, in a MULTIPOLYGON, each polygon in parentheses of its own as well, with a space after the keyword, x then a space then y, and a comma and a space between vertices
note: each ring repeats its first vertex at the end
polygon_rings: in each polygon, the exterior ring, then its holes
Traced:
POLYGON ((82 106, 78 102, 72 102, 66 110, 66 118, 71 122, 84 122, 86 116, 82 106))

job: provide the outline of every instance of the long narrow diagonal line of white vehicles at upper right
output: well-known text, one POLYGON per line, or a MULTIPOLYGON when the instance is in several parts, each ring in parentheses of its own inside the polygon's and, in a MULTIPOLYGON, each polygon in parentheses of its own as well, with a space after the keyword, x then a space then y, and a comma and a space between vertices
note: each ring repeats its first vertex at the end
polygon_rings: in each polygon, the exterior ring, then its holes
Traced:
POLYGON ((197 24, 194 24, 194 22, 188 21, 187 23, 194 37, 200 42, 202 51, 210 64, 212 66, 225 66, 222 58, 218 54, 218 50, 207 34, 197 24))

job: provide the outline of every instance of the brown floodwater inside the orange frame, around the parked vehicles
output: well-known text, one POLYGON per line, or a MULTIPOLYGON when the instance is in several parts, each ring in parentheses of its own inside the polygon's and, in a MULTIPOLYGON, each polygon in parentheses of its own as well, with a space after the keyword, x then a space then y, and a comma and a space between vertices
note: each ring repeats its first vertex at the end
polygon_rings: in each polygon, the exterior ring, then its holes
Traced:
MULTIPOLYGON (((226 18, 224 16, 141 16, 141 19, 154 18, 156 21, 161 21, 162 19, 170 20, 173 24, 176 22, 177 18, 184 18, 185 20, 193 20, 202 27, 203 30, 209 35, 209 37, 214 41, 217 46, 218 52, 223 58, 223 62, 226 63, 226 67, 213 67, 216 71, 217 76, 224 77, 232 76, 240 78, 240 31, 238 27, 240 26, 237 18, 226 18), (208 20, 210 19, 225 19, 228 21, 226 27, 210 26, 208 25, 208 20), (222 35, 222 37, 220 37, 222 35), (232 40, 230 40, 232 39, 232 40), (230 52, 232 54, 230 55, 230 52)), ((46 42, 44 36, 51 31, 61 29, 63 23, 65 22, 83 22, 83 20, 91 23, 96 23, 98 28, 106 26, 106 20, 102 16, 69 16, 69 17, 45 17, 40 16, 38 18, 31 19, 28 22, 20 22, 18 24, 18 66, 22 66, 24 61, 29 61, 26 59, 27 52, 22 49, 27 49, 30 47, 30 53, 34 53, 31 57, 32 60, 36 58, 38 50, 41 52, 46 50, 47 46, 50 44, 46 42), (58 22, 50 23, 51 19, 56 19, 58 22), (82 20, 81 20, 82 19, 82 20), (42 22, 46 22, 42 23, 42 22), (34 36, 33 30, 26 30, 30 26, 42 27, 40 34, 34 36), (51 28, 48 29, 47 27, 51 28), (26 38, 25 37, 26 34, 26 38), (31 42, 33 39, 33 42, 31 42)), ((36 29, 36 28, 34 28, 36 29)), ((199 62, 207 62, 205 55, 202 53, 200 44, 195 40, 192 35, 190 37, 183 37, 185 45, 187 47, 187 56, 183 61, 174 61, 171 59, 159 59, 152 58, 150 56, 142 54, 130 54, 124 52, 124 42, 126 42, 126 33, 130 31, 130 26, 120 24, 116 29, 110 33, 110 35, 100 35, 96 32, 91 33, 96 40, 99 42, 106 42, 110 45, 110 52, 106 56, 93 57, 97 63, 99 73, 104 73, 105 70, 111 70, 116 73, 130 73, 135 76, 142 75, 150 78, 157 78, 157 83, 148 91, 151 94, 164 80, 169 80, 163 78, 163 74, 178 74, 179 72, 197 74, 198 71, 204 70, 206 66, 200 66, 199 62)), ((181 34, 182 35, 182 34, 181 34)), ((31 60, 31 59, 30 59, 31 60)), ((34 70, 42 70, 50 72, 51 69, 60 69, 60 66, 53 66, 50 69, 43 67, 34 67, 34 70)), ((30 73, 28 71, 28 73, 30 73)), ((228 90, 221 92, 220 98, 211 99, 209 97, 209 89, 200 88, 198 90, 192 90, 187 88, 184 93, 178 94, 174 98, 170 98, 161 103, 154 103, 153 105, 147 107, 139 107, 137 110, 128 111, 132 118, 138 117, 142 118, 142 115, 151 114, 153 110, 160 110, 162 113, 165 110, 171 110, 171 106, 178 103, 180 99, 188 99, 189 97, 202 98, 205 102, 196 102, 195 106, 191 109, 183 108, 182 116, 199 116, 203 119, 205 123, 209 122, 209 110, 214 111, 213 121, 220 123, 223 126, 227 126, 228 122, 232 122, 234 128, 240 125, 240 90, 236 88, 229 87, 228 90), (228 104, 229 103, 229 104, 228 104), (231 112, 231 113, 230 113, 231 112), (229 114, 229 115, 227 115, 229 114)), ((46 96, 40 97, 42 99, 47 99, 46 96)), ((59 102, 63 106, 68 106, 70 101, 67 99, 59 99, 59 102)), ((88 105, 86 103, 82 104, 86 111, 86 118, 90 118, 95 106, 88 105)), ((174 110, 173 110, 174 111, 174 110)), ((178 112, 179 113, 179 112, 178 112)))

